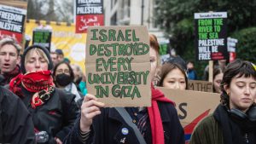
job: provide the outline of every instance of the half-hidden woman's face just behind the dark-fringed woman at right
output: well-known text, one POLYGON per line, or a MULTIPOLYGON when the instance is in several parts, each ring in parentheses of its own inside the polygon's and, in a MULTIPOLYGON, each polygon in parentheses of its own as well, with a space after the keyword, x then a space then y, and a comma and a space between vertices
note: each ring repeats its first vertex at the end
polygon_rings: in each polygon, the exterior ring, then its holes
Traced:
POLYGON ((221 93, 220 83, 223 78, 223 70, 221 68, 214 68, 213 70, 213 92, 221 93))

